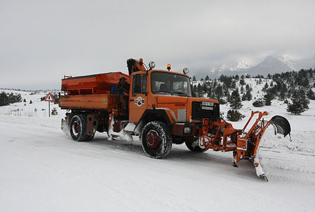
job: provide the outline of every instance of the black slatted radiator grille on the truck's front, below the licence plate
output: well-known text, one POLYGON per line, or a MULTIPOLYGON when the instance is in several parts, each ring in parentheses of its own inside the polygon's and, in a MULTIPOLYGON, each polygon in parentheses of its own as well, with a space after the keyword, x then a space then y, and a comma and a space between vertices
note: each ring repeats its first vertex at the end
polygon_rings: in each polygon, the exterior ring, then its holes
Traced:
POLYGON ((203 110, 201 109, 202 102, 194 101, 192 102, 192 119, 202 120, 203 118, 209 118, 215 120, 220 117, 220 104, 214 103, 213 110, 203 110))

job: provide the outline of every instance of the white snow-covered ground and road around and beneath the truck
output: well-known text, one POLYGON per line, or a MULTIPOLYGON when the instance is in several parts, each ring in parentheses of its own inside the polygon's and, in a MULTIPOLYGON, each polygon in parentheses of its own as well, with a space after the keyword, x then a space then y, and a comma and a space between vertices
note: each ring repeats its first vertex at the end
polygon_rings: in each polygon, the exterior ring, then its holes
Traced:
MULTIPOLYGON (((25 94, 26 106, 0 107, 0 211, 314 210, 315 101, 301 116, 286 112, 282 101, 262 108, 243 101, 246 117, 235 128, 243 128, 255 109, 291 124, 291 142, 273 135, 272 127, 261 141, 266 182, 247 161, 232 167, 232 152, 193 153, 173 145, 156 160, 146 156, 137 137, 129 143, 97 133, 90 142, 72 141, 60 129, 64 112, 58 108, 48 118, 42 110, 48 103, 38 100, 44 94, 25 94)), ((225 114, 228 109, 221 106, 225 114)))

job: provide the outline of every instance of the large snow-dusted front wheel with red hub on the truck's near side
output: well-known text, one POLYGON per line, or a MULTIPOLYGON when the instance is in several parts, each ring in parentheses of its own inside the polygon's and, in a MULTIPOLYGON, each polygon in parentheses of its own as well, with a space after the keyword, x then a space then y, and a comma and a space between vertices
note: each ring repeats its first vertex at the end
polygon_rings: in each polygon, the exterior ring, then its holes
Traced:
POLYGON ((172 148, 172 137, 166 124, 161 121, 149 122, 141 132, 143 151, 150 158, 164 158, 172 148))

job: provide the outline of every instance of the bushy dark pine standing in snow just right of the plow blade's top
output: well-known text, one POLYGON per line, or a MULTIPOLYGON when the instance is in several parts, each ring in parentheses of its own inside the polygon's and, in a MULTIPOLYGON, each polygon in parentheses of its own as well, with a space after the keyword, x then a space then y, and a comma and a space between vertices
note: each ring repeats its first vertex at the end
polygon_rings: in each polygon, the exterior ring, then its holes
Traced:
POLYGON ((294 115, 301 115, 309 108, 310 100, 307 99, 304 90, 301 88, 293 91, 291 101, 292 103, 287 104, 287 111, 294 115))

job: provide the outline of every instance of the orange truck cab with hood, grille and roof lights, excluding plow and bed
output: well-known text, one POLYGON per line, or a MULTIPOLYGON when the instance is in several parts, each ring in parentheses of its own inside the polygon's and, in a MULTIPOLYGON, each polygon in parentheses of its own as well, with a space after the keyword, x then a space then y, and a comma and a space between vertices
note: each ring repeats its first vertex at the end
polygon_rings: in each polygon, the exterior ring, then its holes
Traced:
POLYGON ((170 133, 172 143, 185 142, 192 150, 205 151, 191 144, 198 140, 203 118, 216 120, 220 117, 219 102, 193 97, 188 69, 178 73, 169 71, 170 65, 168 70, 153 68, 138 69, 130 74, 129 121, 136 124, 135 133, 144 140, 142 132, 146 124, 159 122, 170 133))

